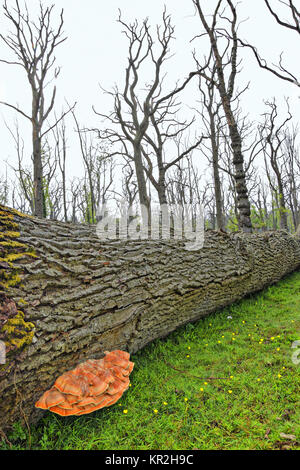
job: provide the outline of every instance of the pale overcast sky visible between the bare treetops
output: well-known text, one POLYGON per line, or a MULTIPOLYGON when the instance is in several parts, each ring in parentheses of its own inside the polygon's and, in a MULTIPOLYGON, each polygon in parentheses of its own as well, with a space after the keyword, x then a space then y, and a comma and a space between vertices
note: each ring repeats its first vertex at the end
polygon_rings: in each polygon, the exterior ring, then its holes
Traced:
MULTIPOLYGON (((1 4, 3 2, 1 1, 1 4)), ((8 5, 14 5, 14 0, 7 0, 8 5)), ((122 26, 117 22, 118 8, 122 11, 124 21, 133 21, 135 18, 143 20, 149 17, 149 24, 154 27, 161 23, 162 11, 166 5, 167 12, 171 14, 172 22, 176 27, 176 40, 171 44, 171 52, 175 54, 167 63, 165 71, 168 72, 167 84, 174 86, 177 80, 181 81, 191 70, 194 70, 192 49, 197 49, 198 57, 206 51, 200 42, 190 40, 202 32, 200 20, 195 16, 192 0, 55 0, 43 4, 54 3, 53 19, 59 17, 64 9, 64 31, 67 40, 56 49, 57 65, 62 67, 57 85, 57 99, 55 111, 61 112, 65 99, 69 103, 78 102, 77 117, 82 125, 100 127, 100 118, 92 111, 92 105, 99 112, 108 113, 112 103, 104 95, 99 84, 105 89, 111 89, 115 84, 120 88, 124 83, 124 70, 127 61, 127 42, 122 34, 122 26)), ((209 14, 216 5, 215 0, 202 0, 206 12, 209 14)), ((279 5, 277 0, 272 4, 279 5)), ((296 4, 299 0, 296 0, 296 4)), ((20 0, 22 5, 22 0, 20 0)), ((38 0, 28 0, 27 5, 32 18, 38 13, 38 0)), ((282 6, 282 5, 281 5, 282 6)), ((282 8, 281 8, 282 11, 282 8)), ((284 64, 288 70, 300 77, 298 36, 287 28, 280 27, 269 14, 263 0, 242 0, 238 4, 240 20, 246 20, 240 25, 239 33, 245 41, 258 47, 260 55, 268 62, 277 63, 279 54, 284 52, 284 64)), ((3 35, 8 31, 8 23, 4 18, 2 7, 0 10, 0 27, 3 35)), ((299 95, 300 89, 292 84, 277 79, 272 74, 259 69, 250 51, 240 50, 243 57, 243 70, 239 75, 239 88, 250 80, 250 88, 243 95, 242 106, 244 114, 259 120, 265 110, 264 99, 276 96, 279 103, 283 103, 285 96, 290 97, 294 122, 299 121, 299 95)), ((0 44, 0 58, 12 59, 10 51, 4 44, 0 44)), ((195 90, 190 87, 184 94, 184 109, 195 106, 195 90)), ((0 63, 0 100, 19 105, 30 114, 31 95, 29 84, 23 69, 18 66, 0 63)), ((11 164, 16 161, 14 144, 9 132, 5 128, 4 119, 13 128, 14 119, 18 117, 21 135, 26 143, 25 153, 30 161, 31 128, 29 121, 17 115, 16 112, 0 107, 0 164, 1 171, 5 171, 5 160, 11 164)), ((51 123, 51 119, 49 121, 51 123)), ((70 130, 73 129, 72 120, 69 120, 70 130)), ((79 148, 76 135, 69 131, 69 175, 80 176, 82 171, 79 148), (76 145, 75 145, 76 144, 76 145)))

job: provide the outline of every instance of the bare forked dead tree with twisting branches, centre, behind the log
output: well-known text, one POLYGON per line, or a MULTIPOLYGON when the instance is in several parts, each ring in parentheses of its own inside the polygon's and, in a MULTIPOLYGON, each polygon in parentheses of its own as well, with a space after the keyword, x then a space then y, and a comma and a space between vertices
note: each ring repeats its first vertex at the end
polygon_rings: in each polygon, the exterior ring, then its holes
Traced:
MULTIPOLYGON (((184 80, 180 86, 176 85, 168 94, 163 94, 162 69, 168 58, 170 42, 174 37, 174 27, 166 10, 163 12, 162 25, 156 27, 157 51, 154 47, 155 41, 150 32, 148 19, 143 21, 142 26, 137 20, 127 24, 121 19, 120 13, 118 22, 124 27, 123 33, 129 43, 125 85, 123 92, 120 92, 117 86, 112 92, 109 92, 114 102, 111 114, 104 115, 95 111, 113 126, 111 129, 99 130, 98 132, 100 139, 113 146, 121 146, 121 149, 117 150, 115 154, 126 156, 132 160, 140 204, 147 209, 149 214, 151 196, 147 191, 144 163, 147 153, 143 148, 143 140, 146 139, 151 122, 152 124, 158 122, 154 118, 156 113, 159 113, 165 103, 170 103, 172 97, 184 89, 191 77, 184 80), (153 72, 151 77, 148 72, 147 82, 144 85, 144 96, 141 97, 138 91, 142 76, 141 68, 148 63, 153 67, 153 72)), ((150 174, 149 167, 148 172, 150 174)), ((161 174, 164 172, 165 170, 161 171, 161 174)), ((152 182, 154 183, 154 181, 152 182)), ((158 185, 163 191, 163 184, 159 181, 158 185)))

